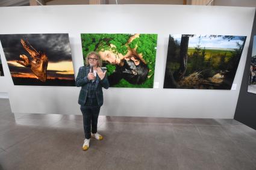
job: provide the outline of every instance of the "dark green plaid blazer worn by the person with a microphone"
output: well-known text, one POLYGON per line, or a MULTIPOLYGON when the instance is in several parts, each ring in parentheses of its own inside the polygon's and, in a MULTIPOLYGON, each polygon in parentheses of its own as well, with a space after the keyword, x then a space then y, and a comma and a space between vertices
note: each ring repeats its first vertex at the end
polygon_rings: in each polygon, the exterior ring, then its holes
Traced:
MULTIPOLYGON (((84 105, 86 103, 86 97, 88 93, 88 83, 90 80, 87 78, 87 75, 90 73, 90 67, 89 66, 83 66, 79 68, 78 75, 75 80, 76 87, 82 87, 79 97, 78 97, 78 104, 84 105)), ((107 76, 104 77, 104 79, 100 79, 98 74, 96 76, 96 98, 98 101, 98 105, 103 105, 103 91, 102 87, 105 89, 108 89, 110 86, 108 82, 107 76)))

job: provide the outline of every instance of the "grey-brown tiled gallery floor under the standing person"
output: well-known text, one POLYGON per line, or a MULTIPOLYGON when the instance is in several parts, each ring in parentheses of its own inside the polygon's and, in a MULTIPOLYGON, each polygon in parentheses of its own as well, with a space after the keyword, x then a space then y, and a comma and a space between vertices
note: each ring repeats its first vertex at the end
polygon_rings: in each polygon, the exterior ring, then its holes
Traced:
POLYGON ((11 113, 0 99, 0 169, 256 169, 256 130, 236 120, 99 118, 83 145, 81 115, 11 113))

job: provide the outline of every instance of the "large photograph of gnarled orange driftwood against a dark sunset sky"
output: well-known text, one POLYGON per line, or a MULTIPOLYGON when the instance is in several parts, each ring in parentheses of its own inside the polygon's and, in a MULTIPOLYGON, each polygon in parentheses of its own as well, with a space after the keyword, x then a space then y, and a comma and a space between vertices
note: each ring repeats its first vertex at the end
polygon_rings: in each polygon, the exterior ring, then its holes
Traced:
POLYGON ((68 34, 4 34, 14 85, 75 86, 68 34))

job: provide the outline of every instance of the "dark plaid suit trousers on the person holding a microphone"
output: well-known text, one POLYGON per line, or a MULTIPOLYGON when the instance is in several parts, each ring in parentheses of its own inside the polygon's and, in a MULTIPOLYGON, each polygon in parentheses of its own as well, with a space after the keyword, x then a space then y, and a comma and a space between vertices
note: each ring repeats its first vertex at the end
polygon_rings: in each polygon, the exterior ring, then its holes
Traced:
POLYGON ((81 112, 84 120, 84 136, 86 139, 91 138, 92 133, 97 132, 99 110, 97 99, 86 99, 86 105, 81 105, 81 112))

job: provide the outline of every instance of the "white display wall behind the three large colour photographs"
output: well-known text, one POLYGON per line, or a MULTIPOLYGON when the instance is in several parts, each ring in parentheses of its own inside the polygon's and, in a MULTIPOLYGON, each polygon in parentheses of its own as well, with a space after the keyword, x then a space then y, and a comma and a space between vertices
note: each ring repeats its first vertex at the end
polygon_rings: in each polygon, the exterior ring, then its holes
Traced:
MULTIPOLYGON (((83 65, 80 33, 158 34, 155 82, 160 88, 110 88, 101 115, 233 118, 245 67, 255 8, 190 5, 70 5, 0 8, 0 34, 69 33, 75 74, 83 65), (246 35, 229 90, 163 89, 169 34, 246 35)), ((4 53, 0 49, 1 55, 4 53)), ((80 114, 80 88, 14 86, 5 82, 14 113, 80 114)), ((0 86, 0 89, 2 85, 0 86)))

